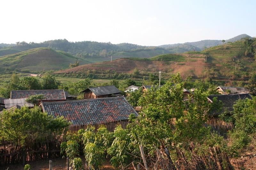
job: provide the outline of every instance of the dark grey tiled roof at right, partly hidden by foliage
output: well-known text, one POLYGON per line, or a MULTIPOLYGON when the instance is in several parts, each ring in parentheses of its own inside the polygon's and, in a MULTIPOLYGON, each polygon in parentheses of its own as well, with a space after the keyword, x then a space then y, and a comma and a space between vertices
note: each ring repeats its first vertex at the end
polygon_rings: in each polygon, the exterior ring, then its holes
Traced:
POLYGON ((210 95, 208 96, 208 100, 210 102, 213 101, 213 98, 216 97, 218 101, 222 101, 222 108, 220 110, 213 110, 213 115, 219 115, 225 111, 231 112, 233 111, 233 105, 236 103, 239 99, 252 99, 250 94, 244 93, 244 94, 220 94, 220 95, 210 95))

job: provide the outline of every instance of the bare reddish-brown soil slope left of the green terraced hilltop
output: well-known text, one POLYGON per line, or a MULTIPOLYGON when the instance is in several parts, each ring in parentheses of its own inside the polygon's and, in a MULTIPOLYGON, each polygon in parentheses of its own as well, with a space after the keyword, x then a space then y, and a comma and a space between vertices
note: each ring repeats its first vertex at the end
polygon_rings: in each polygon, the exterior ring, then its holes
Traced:
POLYGON ((140 58, 122 58, 112 62, 100 62, 84 64, 78 67, 60 70, 56 74, 86 73, 88 70, 94 73, 106 73, 109 70, 115 70, 117 73, 132 73, 137 68, 140 73, 158 72, 164 73, 180 72, 186 76, 200 76, 203 73, 204 55, 202 54, 167 54, 159 55, 150 59, 140 58))

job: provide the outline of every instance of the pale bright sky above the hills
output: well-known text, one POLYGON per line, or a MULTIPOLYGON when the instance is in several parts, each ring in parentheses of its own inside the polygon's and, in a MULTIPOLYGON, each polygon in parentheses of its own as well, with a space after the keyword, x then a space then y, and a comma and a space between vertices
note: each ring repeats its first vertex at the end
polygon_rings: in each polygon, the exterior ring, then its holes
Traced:
POLYGON ((0 43, 158 46, 256 36, 255 0, 1 0, 0 43))

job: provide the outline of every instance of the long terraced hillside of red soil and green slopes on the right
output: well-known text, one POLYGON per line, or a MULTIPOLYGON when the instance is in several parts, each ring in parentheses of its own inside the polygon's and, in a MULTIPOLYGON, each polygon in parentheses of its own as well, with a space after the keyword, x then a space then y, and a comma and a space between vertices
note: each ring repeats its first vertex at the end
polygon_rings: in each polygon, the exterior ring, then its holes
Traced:
MULTIPOLYGON (((255 41, 255 39, 254 39, 255 41)), ((245 56, 246 40, 226 43, 207 48, 202 52, 165 54, 152 58, 122 58, 112 62, 100 62, 57 71, 56 74, 74 76, 90 73, 93 76, 108 74, 132 74, 137 68, 141 76, 162 71, 166 76, 180 72, 183 77, 221 78, 247 80, 255 73, 256 63, 253 55, 245 56), (205 57, 206 60, 205 61, 205 57)), ((255 41, 256 42, 256 41, 255 41)), ((255 49, 254 49, 255 50, 255 49)), ((85 76, 85 75, 84 75, 85 76)))

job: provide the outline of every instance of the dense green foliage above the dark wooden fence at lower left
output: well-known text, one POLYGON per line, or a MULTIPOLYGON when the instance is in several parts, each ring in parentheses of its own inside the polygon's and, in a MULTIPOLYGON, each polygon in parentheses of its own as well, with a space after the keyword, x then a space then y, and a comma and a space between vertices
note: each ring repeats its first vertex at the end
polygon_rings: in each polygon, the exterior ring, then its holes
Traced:
POLYGON ((14 143, 16 147, 54 139, 70 124, 63 117, 53 118, 43 113, 37 106, 32 109, 21 107, 4 110, 0 119, 0 137, 14 143))

